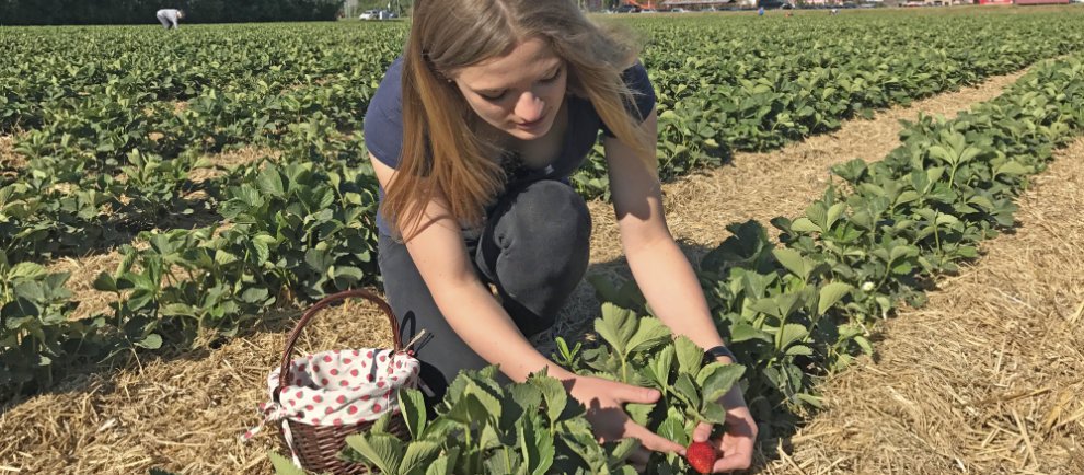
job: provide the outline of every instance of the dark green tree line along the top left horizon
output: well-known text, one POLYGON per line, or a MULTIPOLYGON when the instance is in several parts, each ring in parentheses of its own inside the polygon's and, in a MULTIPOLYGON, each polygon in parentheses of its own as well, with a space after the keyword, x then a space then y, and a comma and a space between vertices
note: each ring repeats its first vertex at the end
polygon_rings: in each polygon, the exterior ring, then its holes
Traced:
POLYGON ((159 9, 183 23, 335 20, 342 0, 0 0, 0 25, 155 24, 159 9))

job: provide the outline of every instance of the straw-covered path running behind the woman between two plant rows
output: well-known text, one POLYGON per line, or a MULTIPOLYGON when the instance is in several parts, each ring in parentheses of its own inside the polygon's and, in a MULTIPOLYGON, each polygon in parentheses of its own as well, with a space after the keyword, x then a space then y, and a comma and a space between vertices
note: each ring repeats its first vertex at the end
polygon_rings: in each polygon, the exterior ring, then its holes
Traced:
MULTIPOLYGON (((735 153, 726 166, 666 184, 662 193, 670 232, 694 263, 729 235, 726 225, 733 222, 754 219, 775 236, 779 233, 769 220, 800 216, 828 186, 831 165, 856 158, 881 160, 900 144, 899 134, 903 129, 900 120, 918 120, 920 112, 955 117, 971 104, 1000 95, 1023 74, 1024 71, 994 77, 976 88, 883 111, 873 120, 851 120, 832 134, 809 137, 782 150, 735 153)), ((630 277, 612 205, 593 201, 588 206, 593 219, 592 265, 588 273, 630 277)), ((554 327, 555 334, 566 339, 583 334, 598 309, 590 285, 581 282, 554 327)), ((546 354, 553 351, 552 341, 550 336, 538 340, 546 354)))

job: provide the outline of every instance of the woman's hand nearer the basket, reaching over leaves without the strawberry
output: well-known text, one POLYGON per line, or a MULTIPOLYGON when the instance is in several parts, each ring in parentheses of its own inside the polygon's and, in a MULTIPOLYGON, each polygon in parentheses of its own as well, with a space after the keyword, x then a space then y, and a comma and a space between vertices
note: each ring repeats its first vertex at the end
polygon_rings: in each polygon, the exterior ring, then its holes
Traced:
POLYGON ((625 413, 623 405, 626 403, 658 401, 661 396, 658 390, 591 376, 575 376, 565 384, 569 394, 587 407, 587 420, 600 442, 630 437, 639 439, 641 448, 629 457, 637 471, 643 472, 647 466, 650 451, 684 455, 683 447, 634 422, 625 413))

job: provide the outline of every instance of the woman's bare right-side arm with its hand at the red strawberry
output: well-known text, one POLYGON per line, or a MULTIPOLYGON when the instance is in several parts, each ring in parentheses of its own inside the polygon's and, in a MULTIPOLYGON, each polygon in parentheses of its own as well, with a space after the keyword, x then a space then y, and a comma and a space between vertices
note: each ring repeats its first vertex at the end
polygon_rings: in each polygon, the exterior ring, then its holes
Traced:
MULTIPOLYGON (((658 137, 657 124, 656 112, 651 111, 641 127, 648 137, 658 137)), ((613 137, 603 138, 602 146, 621 245, 647 303, 676 335, 684 335, 701 348, 723 345, 700 280, 666 224, 655 148, 639 152, 613 137)), ((719 361, 731 362, 726 357, 719 361)), ((714 472, 748 468, 757 425, 741 389, 735 385, 720 403, 727 408, 727 431, 720 440, 712 441, 724 453, 714 472)), ((693 440, 706 441, 711 431, 710 425, 701 424, 693 440)))

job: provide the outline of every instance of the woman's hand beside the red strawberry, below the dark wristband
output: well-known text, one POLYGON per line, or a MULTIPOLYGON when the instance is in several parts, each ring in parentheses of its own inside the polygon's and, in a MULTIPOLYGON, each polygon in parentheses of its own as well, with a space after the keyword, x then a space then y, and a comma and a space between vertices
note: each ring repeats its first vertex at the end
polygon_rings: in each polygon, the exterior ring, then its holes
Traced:
MULTIPOLYGON (((741 389, 738 386, 731 389, 719 399, 719 404, 726 407, 726 432, 718 440, 710 442, 715 450, 723 454, 715 461, 712 473, 749 468, 749 465, 752 464, 753 442, 757 440, 757 422, 753 421, 752 414, 746 407, 741 389)), ((707 441, 711 435, 712 425, 700 422, 693 430, 693 442, 707 441)))

